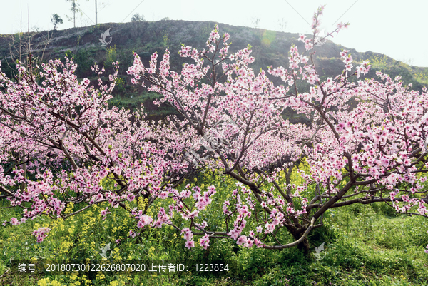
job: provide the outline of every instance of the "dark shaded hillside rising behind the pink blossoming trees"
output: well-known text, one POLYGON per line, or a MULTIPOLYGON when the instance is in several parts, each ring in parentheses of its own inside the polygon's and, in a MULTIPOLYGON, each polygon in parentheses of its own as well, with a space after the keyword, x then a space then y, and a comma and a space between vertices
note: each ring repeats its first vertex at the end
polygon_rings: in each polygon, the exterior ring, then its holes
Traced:
MULTIPOLYGON (((135 108, 144 102, 150 118, 161 118, 165 113, 172 111, 166 107, 157 108, 153 106, 151 102, 157 95, 147 93, 142 88, 131 85, 128 76, 126 76, 126 69, 133 63, 133 51, 141 56, 143 63, 148 64, 151 53, 155 51, 163 53, 168 47, 171 51, 171 69, 180 70, 180 66, 185 62, 177 53, 181 44, 204 48, 208 34, 215 24, 215 22, 210 21, 135 21, 125 24, 98 24, 62 31, 43 31, 30 33, 30 35, 22 34, 21 43, 24 48, 21 55, 22 58, 25 58, 27 50, 25 46, 28 46, 30 41, 33 56, 39 56, 39 58, 43 56, 43 61, 73 56, 74 61, 78 63, 78 76, 90 79, 94 79, 91 71, 93 63, 106 66, 108 72, 111 72, 111 61, 119 61, 121 63, 120 80, 117 83, 115 98, 111 103, 126 108, 135 108), (101 45, 99 39, 107 29, 110 29, 111 44, 105 47, 101 45)), ((231 52, 238 51, 248 45, 252 46, 252 55, 255 57, 253 69, 255 71, 271 65, 274 67, 288 66, 288 50, 292 44, 295 44, 300 52, 305 51, 302 42, 297 41, 298 34, 253 29, 245 26, 218 25, 221 34, 223 32, 230 34, 231 52)), ((2 68, 9 76, 13 73, 11 66, 14 66, 10 64, 12 62, 11 47, 14 58, 19 58, 19 48, 17 48, 20 42, 19 36, 19 34, 0 35, 2 68)), ((332 41, 327 41, 324 45, 316 47, 315 63, 317 71, 323 78, 336 76, 342 71, 343 63, 340 59, 342 48, 344 47, 334 44, 332 41)), ((417 90, 421 90, 422 86, 428 83, 426 68, 408 66, 380 53, 372 53, 371 51, 358 53, 355 49, 347 49, 351 51, 354 60, 357 62, 370 60, 372 71, 367 76, 375 76, 375 71, 384 71, 392 77, 400 75, 404 83, 412 83, 413 88, 417 90)), ((275 80, 277 81, 278 78, 275 80)))

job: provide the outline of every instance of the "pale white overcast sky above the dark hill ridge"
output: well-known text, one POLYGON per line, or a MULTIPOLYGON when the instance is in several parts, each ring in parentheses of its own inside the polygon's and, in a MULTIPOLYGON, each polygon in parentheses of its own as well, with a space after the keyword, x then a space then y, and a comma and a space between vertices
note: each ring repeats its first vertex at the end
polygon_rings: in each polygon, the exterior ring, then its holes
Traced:
MULTIPOLYGON (((23 31, 51 30, 54 13, 63 19, 58 29, 72 28, 71 1, 0 0, 0 34, 19 32, 21 25, 23 31)), ((95 1, 78 0, 82 13, 76 14, 76 26, 95 24, 95 1)), ((300 34, 310 34, 314 11, 325 5, 321 29, 332 31, 340 21, 350 22, 330 39, 336 44, 428 67, 425 0, 97 0, 97 4, 98 23, 128 22, 138 13, 148 21, 165 17, 215 21, 220 31, 223 23, 300 34)))

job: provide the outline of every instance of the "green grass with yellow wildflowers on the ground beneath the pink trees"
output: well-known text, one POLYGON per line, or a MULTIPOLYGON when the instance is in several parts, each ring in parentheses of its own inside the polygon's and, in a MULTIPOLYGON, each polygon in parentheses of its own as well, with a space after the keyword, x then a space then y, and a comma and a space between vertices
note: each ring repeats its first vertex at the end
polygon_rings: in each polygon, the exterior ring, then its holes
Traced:
MULTIPOLYGON (((188 182, 186 182, 188 183, 188 182)), ((233 182, 213 175, 200 175, 195 185, 215 184, 218 193, 213 205, 221 212, 221 201, 233 182)), ((1 206, 6 202, 1 201, 1 206)), ((139 202, 141 204, 141 202, 139 202)), ((160 203, 155 203, 158 208, 160 203)), ((115 208, 106 220, 98 205, 70 220, 47 218, 29 220, 23 225, 6 224, 0 230, 0 275, 11 259, 101 259, 101 248, 111 242, 114 260, 211 260, 223 259, 237 266, 221 277, 213 275, 4 275, 1 285, 428 285, 427 219, 397 215, 387 205, 350 205, 330 210, 325 225, 310 235, 312 257, 307 260, 297 249, 247 249, 227 239, 211 242, 208 250, 184 247, 183 238, 173 228, 145 230, 131 238, 133 220, 115 208), (31 232, 40 226, 52 230, 48 238, 36 243, 31 232), (115 240, 121 240, 119 244, 115 240), (315 260, 315 247, 325 242, 322 260, 315 260)), ((74 208, 76 210, 76 208, 74 208)), ((68 211, 71 211, 68 210, 68 211)), ((3 209, 0 220, 19 217, 20 210, 3 209)), ((218 222, 205 215, 208 223, 218 222)), ((180 219, 177 220, 180 223, 180 219)), ((221 225, 218 225, 219 227, 221 225)), ((198 238, 197 240, 198 241, 198 238)))

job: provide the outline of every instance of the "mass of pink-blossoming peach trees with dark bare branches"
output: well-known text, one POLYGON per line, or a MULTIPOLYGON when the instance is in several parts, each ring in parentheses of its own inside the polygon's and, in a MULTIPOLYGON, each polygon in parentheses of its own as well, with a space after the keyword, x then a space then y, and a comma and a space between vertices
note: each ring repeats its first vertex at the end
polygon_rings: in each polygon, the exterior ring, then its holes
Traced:
MULTIPOLYGON (((345 203, 384 202, 399 213, 426 216, 427 89, 412 91, 399 76, 379 72, 379 80, 362 79, 370 63, 355 68, 347 50, 340 53, 342 73, 322 80, 313 61, 322 11, 314 15, 314 37, 300 35, 305 51, 290 48, 287 68, 255 73, 250 47, 230 53, 229 35, 220 36, 218 26, 205 48, 182 46, 179 54, 190 62, 181 71, 171 70, 168 50, 153 53, 147 66, 134 53, 131 82, 148 84, 162 95, 154 103, 180 113, 156 125, 144 114, 108 108, 117 71, 106 83, 95 66, 98 88, 88 78, 78 81, 67 58, 49 61, 39 73, 20 65, 16 81, 0 73, 0 187, 11 205, 24 209, 23 218, 10 223, 68 218, 108 202, 101 216, 111 208, 130 211, 131 237, 170 225, 188 249, 195 235, 205 249, 224 237, 277 249, 307 240, 326 210, 345 203), (309 85, 304 91, 301 82, 309 85), (287 108, 306 123, 284 118, 287 108), (6 162, 14 167, 5 170, 6 162), (214 185, 178 188, 200 170, 218 171, 236 188, 226 198, 214 185), (223 213, 216 214, 223 231, 203 220, 216 197, 223 200, 223 213), (147 212, 155 201, 163 205, 147 212), (85 206, 66 214, 70 203, 85 206), (184 225, 175 225, 176 216, 184 225), (295 242, 282 240, 280 229, 295 242), (266 243, 272 238, 279 245, 266 243)), ((34 235, 41 242, 48 232, 34 235)))

